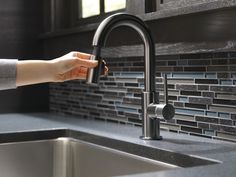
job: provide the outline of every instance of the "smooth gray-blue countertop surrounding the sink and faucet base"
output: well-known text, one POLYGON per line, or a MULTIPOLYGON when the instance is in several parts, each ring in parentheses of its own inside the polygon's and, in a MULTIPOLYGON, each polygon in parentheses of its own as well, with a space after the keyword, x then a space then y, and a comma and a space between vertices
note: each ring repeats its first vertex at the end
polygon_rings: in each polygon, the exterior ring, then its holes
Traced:
MULTIPOLYGON (((180 168, 170 171, 152 172, 134 177, 233 177, 236 175, 236 144, 212 140, 208 138, 176 134, 161 131, 163 140, 144 141, 139 139, 141 127, 124 125, 98 120, 80 119, 75 116, 55 115, 48 113, 30 114, 1 114, 0 135, 22 132, 36 132, 42 130, 70 129, 117 140, 132 142, 134 144, 167 149, 191 156, 214 159, 222 163, 180 168)), ((1 139, 0 139, 1 140, 1 139)))

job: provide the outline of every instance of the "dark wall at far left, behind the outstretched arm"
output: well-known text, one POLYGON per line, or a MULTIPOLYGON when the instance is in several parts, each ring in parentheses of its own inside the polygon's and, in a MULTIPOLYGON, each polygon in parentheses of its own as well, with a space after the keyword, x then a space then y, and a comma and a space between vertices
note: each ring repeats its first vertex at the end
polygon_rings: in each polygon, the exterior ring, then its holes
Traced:
MULTIPOLYGON (((0 0, 0 58, 42 59, 41 0, 0 0)), ((0 92, 0 113, 48 110, 48 86, 0 92)))

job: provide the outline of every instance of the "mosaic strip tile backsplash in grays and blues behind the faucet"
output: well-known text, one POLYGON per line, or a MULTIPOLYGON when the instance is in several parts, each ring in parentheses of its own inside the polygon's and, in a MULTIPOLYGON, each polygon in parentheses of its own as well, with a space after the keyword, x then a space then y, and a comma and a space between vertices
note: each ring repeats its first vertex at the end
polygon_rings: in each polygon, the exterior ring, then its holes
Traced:
MULTIPOLYGON (((143 58, 108 58, 109 76, 99 86, 82 81, 50 84, 50 110, 80 118, 141 126, 143 58)), ((176 108, 161 128, 236 141, 236 53, 156 57, 156 86, 163 100, 163 73, 176 108)))

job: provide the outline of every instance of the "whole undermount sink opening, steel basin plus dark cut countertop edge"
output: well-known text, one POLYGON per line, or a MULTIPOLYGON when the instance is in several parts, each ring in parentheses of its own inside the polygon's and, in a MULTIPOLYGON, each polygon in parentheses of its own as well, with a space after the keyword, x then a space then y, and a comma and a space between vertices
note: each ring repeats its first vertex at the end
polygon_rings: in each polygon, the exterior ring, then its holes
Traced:
POLYGON ((17 137, 19 142, 0 144, 0 176, 110 177, 216 163, 71 130, 14 134, 14 140, 17 137))

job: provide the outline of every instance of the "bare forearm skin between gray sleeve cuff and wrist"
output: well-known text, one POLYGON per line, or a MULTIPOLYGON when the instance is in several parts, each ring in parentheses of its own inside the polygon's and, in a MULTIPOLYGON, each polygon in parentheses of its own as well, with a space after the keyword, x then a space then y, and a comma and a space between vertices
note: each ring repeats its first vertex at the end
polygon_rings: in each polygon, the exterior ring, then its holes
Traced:
POLYGON ((53 81, 52 64, 44 60, 18 61, 16 65, 16 86, 53 81))

